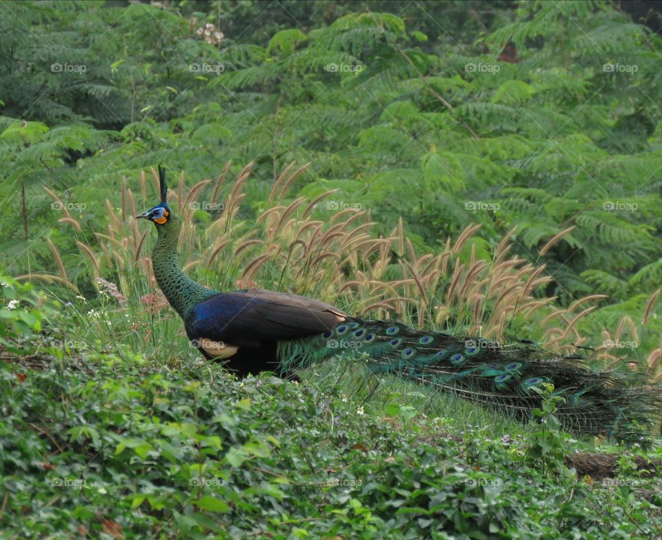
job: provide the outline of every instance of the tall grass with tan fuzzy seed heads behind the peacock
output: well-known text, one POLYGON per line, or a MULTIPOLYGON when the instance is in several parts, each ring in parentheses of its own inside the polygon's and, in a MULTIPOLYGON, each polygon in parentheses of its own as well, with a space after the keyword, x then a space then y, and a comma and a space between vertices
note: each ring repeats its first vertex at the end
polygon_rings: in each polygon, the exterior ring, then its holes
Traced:
MULTIPOLYGON (((605 297, 592 295, 568 307, 557 305, 555 298, 543 293, 552 279, 545 268, 510 255, 514 229, 494 247, 490 260, 479 259, 471 242, 479 225, 449 238, 437 253, 417 253, 402 220, 390 234, 379 235, 370 211, 325 209, 323 203, 334 191, 314 200, 288 197, 307 167, 285 168, 274 182, 266 208, 254 220, 241 209, 252 164, 230 179, 228 163, 217 179, 190 187, 183 173, 177 182, 171 178, 169 204, 182 223, 179 257, 185 271, 216 289, 257 286, 291 291, 332 302, 352 314, 403 320, 416 327, 485 338, 532 338, 559 350, 586 343, 579 322, 590 317, 605 297)), ((72 313, 83 323, 86 338, 107 343, 120 339, 132 343, 137 352, 161 358, 176 359, 179 351, 188 350, 194 358, 181 324, 157 291, 149 255, 156 234, 152 226, 133 218, 159 200, 158 176, 153 169, 150 172, 143 171, 137 182, 123 179, 120 212, 106 201, 108 223, 95 233, 96 244, 77 242, 100 293, 92 304, 101 314, 88 309, 89 302, 77 301, 77 287, 52 243, 57 275, 19 277, 57 284, 54 293, 72 302, 72 313), (100 279, 117 284, 127 301, 108 296, 100 279)), ((46 191, 61 203, 57 193, 46 191)), ((80 231, 66 205, 59 207, 60 221, 71 226, 72 234, 80 231)), ((567 232, 550 238, 541 253, 567 232)), ((649 299, 639 328, 649 322, 659 293, 649 299)), ((637 325, 628 316, 613 331, 605 330, 605 338, 615 341, 625 334, 636 339, 637 325)), ((608 347, 600 347, 595 357, 607 366, 619 360, 608 347)), ((646 369, 657 379, 662 378, 661 358, 662 347, 645 358, 646 369)))

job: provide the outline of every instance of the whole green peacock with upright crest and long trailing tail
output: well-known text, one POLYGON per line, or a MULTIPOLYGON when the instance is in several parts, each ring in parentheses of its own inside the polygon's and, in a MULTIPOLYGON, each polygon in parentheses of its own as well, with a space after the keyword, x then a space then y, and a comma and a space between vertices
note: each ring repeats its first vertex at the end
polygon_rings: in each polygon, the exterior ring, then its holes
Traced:
POLYGON ((177 262, 180 222, 168 206, 161 166, 159 180, 161 202, 137 216, 157 229, 154 276, 192 344, 239 377, 265 371, 292 376, 332 359, 357 360, 369 373, 397 376, 521 419, 551 389, 561 398, 557 417, 566 430, 626 443, 639 441, 659 416, 658 386, 598 372, 581 354, 554 354, 530 340, 499 343, 353 317, 296 294, 203 287, 177 262))

